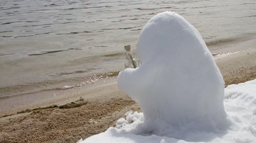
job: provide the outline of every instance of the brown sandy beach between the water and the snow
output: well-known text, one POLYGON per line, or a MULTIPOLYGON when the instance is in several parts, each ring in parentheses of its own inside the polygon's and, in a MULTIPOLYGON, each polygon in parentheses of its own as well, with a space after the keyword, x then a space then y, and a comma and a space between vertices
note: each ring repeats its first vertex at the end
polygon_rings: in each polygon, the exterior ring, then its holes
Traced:
MULTIPOLYGON (((209 47, 225 86, 256 78, 255 40, 209 47), (223 48, 225 47, 225 48, 223 48), (238 50, 240 49, 240 50, 238 50)), ((139 105, 117 87, 118 71, 46 88, 16 88, 0 99, 0 142, 76 142, 115 126, 139 105), (66 87, 65 87, 66 86, 66 87), (28 93, 28 91, 30 91, 28 93)), ((46 84, 47 83, 42 83, 46 84)))

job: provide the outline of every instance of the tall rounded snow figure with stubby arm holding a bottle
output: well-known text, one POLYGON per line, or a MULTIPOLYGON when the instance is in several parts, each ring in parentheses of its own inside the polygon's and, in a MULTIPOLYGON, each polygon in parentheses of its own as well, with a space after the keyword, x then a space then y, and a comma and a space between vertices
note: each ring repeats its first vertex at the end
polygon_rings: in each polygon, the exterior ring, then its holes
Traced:
POLYGON ((118 76, 119 89, 139 102, 146 122, 161 122, 145 132, 219 132, 226 128, 224 81, 199 32, 166 11, 152 17, 137 43, 142 65, 118 76))

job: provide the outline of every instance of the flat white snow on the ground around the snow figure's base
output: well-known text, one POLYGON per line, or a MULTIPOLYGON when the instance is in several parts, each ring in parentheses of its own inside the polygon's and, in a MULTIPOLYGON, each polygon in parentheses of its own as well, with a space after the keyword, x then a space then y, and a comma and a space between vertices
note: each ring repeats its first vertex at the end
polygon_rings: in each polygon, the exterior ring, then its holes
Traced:
POLYGON ((254 143, 256 141, 256 79, 246 83, 231 85, 225 89, 224 106, 231 124, 228 129, 219 133, 214 132, 189 132, 189 126, 183 126, 183 131, 172 129, 162 130, 170 133, 166 136, 158 136, 153 133, 140 134, 148 126, 163 126, 161 123, 145 123, 143 113, 128 112, 126 118, 120 118, 116 127, 110 127, 106 132, 91 136, 80 143, 254 143), (180 137, 175 134, 180 134, 180 137), (184 136, 186 135, 186 136, 184 136))

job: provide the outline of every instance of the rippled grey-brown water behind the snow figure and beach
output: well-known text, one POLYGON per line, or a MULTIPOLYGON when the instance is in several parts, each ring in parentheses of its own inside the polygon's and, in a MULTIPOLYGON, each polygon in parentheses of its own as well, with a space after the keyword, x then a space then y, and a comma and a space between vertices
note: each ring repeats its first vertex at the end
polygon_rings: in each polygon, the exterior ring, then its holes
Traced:
POLYGON ((255 0, 0 2, 0 87, 123 69, 123 46, 136 47, 155 14, 176 11, 208 45, 256 34, 255 0))

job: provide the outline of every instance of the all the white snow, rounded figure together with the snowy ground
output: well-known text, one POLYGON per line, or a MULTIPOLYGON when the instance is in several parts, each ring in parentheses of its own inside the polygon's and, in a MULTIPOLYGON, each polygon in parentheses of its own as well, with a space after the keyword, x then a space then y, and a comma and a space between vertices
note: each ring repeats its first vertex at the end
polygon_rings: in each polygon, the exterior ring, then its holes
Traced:
POLYGON ((117 82, 143 112, 79 142, 256 142, 256 80, 224 89, 204 40, 179 14, 149 20, 137 53, 142 65, 117 82))

